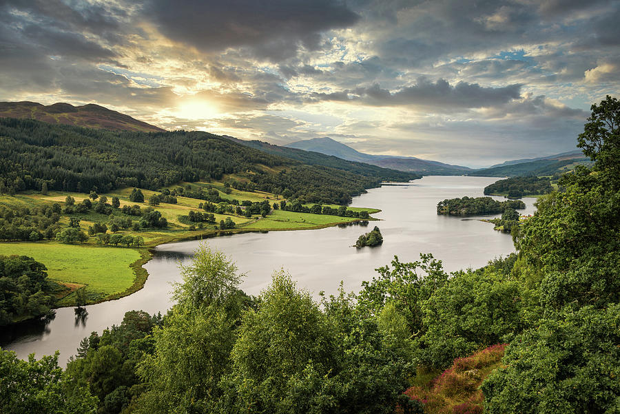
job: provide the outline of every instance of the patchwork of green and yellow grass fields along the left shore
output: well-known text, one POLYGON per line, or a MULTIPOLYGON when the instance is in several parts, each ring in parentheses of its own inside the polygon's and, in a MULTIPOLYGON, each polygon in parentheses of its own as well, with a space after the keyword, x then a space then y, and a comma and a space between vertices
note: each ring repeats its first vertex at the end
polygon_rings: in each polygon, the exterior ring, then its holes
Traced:
MULTIPOLYGON (((225 186, 223 183, 180 183, 169 188, 184 188, 190 185, 193 190, 198 187, 213 187, 218 189, 220 197, 228 200, 251 200, 253 202, 270 200, 270 203, 279 203, 281 198, 276 198, 274 194, 266 192, 242 192, 232 189, 231 194, 225 194, 225 186)), ((99 194, 106 196, 108 203, 112 201, 112 197, 118 197, 121 207, 124 205, 140 205, 141 208, 149 207, 147 203, 134 203, 129 200, 132 187, 116 189, 107 194, 99 194)), ((145 201, 156 192, 147 189, 141 189, 145 201)), ((40 194, 39 192, 23 192, 8 196, 0 194, 0 206, 16 208, 16 207, 40 207, 49 206, 53 203, 59 203, 64 207, 65 198, 72 196, 76 204, 81 203, 87 198, 84 193, 74 192, 54 192, 48 194, 40 194)), ((154 209, 160 211, 162 216, 168 222, 167 229, 141 229, 134 231, 132 229, 121 229, 118 234, 130 236, 141 236, 144 239, 145 247, 155 247, 167 242, 190 240, 195 238, 209 237, 220 234, 214 224, 204 224, 204 228, 198 228, 196 223, 194 230, 189 229, 188 224, 179 221, 180 216, 187 216, 189 211, 198 211, 198 204, 203 200, 195 198, 177 197, 177 204, 161 203, 153 206, 154 209)), ((330 205, 338 208, 338 206, 330 205)), ((378 209, 366 209, 360 207, 349 207, 353 211, 366 210, 369 214, 378 212, 378 209)), ((127 216, 120 210, 114 209, 114 216, 130 217, 134 222, 138 217, 127 216)), ((298 230, 298 229, 320 229, 359 220, 358 218, 328 216, 322 214, 296 213, 293 211, 272 210, 265 217, 254 216, 246 218, 244 216, 236 216, 231 214, 214 214, 216 223, 230 217, 235 223, 236 228, 227 230, 226 233, 238 233, 242 231, 269 231, 269 230, 298 230)), ((90 225, 95 222, 106 223, 109 220, 107 214, 99 214, 92 209, 84 214, 70 214, 61 216, 59 224, 67 226, 69 218, 79 218, 81 230, 87 231, 90 225)), ((109 226, 108 226, 109 227, 109 226)), ((150 253, 147 249, 134 249, 124 247, 99 247, 96 245, 96 238, 90 237, 87 242, 81 245, 66 245, 55 241, 41 242, 1 242, 0 254, 10 255, 18 254, 34 258, 48 268, 48 276, 50 280, 61 284, 63 289, 59 294, 60 306, 72 306, 75 303, 77 289, 86 287, 88 301, 90 303, 103 302, 126 296, 143 287, 147 278, 147 272, 142 265, 149 260, 150 253)))

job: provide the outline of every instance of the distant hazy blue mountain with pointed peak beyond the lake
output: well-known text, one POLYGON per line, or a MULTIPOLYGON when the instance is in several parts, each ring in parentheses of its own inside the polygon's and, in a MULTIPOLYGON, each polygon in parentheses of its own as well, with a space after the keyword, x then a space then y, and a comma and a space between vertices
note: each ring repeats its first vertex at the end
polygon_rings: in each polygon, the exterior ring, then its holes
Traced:
POLYGON ((471 171, 470 168, 462 167, 461 165, 444 164, 438 161, 428 161, 415 157, 364 154, 327 136, 297 141, 286 145, 286 147, 320 152, 321 154, 337 156, 347 161, 369 163, 377 165, 378 167, 397 169, 406 172, 459 175, 471 171))

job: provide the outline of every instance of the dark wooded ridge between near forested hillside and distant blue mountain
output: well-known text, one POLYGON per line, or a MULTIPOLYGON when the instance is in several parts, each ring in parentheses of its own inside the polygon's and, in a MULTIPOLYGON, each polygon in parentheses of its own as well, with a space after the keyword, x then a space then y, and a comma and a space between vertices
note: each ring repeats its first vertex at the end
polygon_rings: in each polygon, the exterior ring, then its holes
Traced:
POLYGON ((321 165, 323 167, 342 169, 344 171, 353 172, 354 174, 361 174, 363 176, 377 177, 381 178, 384 181, 406 182, 409 180, 422 178, 421 174, 417 174, 415 172, 404 172, 397 169, 378 167, 376 165, 371 165, 368 163, 347 161, 336 156, 321 154, 320 152, 304 151, 304 149, 297 148, 280 147, 280 145, 273 145, 258 140, 245 141, 227 135, 224 135, 224 137, 241 145, 245 145, 246 147, 260 149, 260 151, 267 152, 271 155, 291 158, 293 160, 301 161, 302 163, 308 165, 321 165))

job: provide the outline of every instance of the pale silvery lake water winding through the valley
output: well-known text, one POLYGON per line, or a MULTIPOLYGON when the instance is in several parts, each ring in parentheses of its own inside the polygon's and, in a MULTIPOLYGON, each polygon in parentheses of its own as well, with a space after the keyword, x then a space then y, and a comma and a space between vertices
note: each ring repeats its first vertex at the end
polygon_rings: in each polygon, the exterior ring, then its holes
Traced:
MULTIPOLYGON (((402 185, 369 190, 353 199, 353 207, 382 209, 368 227, 329 227, 320 230, 271 231, 265 234, 238 234, 207 240, 213 248, 231 257, 246 274, 241 288, 257 295, 265 289, 274 270, 283 268, 297 280, 299 287, 315 295, 319 291, 334 293, 340 281, 347 291, 358 291, 362 280, 370 280, 377 267, 388 265, 397 255, 401 261, 433 253, 448 271, 481 267, 497 256, 514 251, 508 234, 493 231, 493 225, 471 218, 437 216, 436 205, 445 198, 482 196, 482 189, 497 178, 464 176, 429 176, 402 185), (360 234, 378 225, 384 236, 380 247, 355 249, 360 234)), ((501 198, 497 198, 501 199, 501 198)), ((532 214, 533 198, 521 214, 532 214)), ((145 287, 131 296, 87 307, 87 316, 76 319, 73 308, 57 309, 48 324, 30 324, 4 329, 3 348, 15 351, 19 358, 29 353, 42 355, 60 351, 64 365, 74 355, 82 338, 92 331, 101 333, 119 324, 126 311, 143 309, 149 313, 165 312, 171 306, 170 282, 179 280, 179 262, 187 264, 198 241, 176 242, 154 249, 154 258, 145 269, 149 278, 145 287)))

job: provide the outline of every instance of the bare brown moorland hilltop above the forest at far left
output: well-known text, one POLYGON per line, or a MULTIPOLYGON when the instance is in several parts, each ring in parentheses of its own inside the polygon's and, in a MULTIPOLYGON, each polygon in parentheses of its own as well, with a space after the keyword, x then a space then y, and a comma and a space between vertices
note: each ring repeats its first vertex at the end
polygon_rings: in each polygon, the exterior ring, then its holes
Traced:
POLYGON ((0 102, 0 118, 29 118, 47 123, 76 127, 103 128, 113 131, 163 132, 160 127, 138 121, 129 115, 90 103, 73 106, 69 103, 41 105, 36 102, 0 102))

